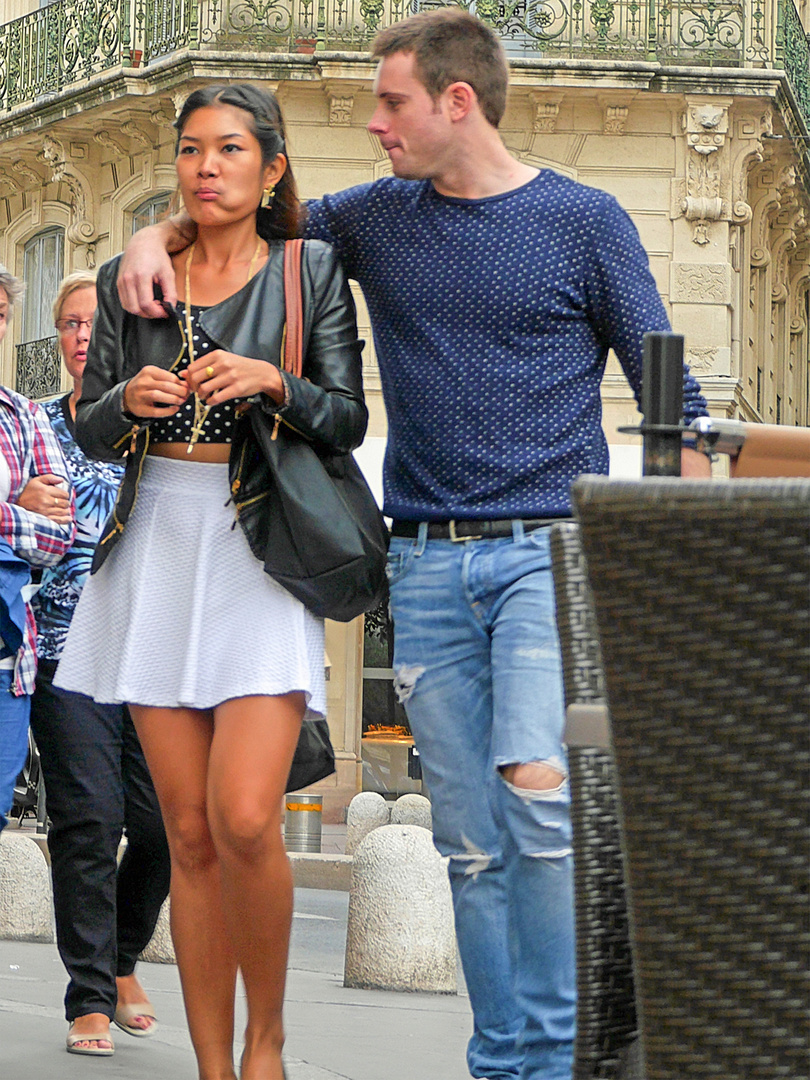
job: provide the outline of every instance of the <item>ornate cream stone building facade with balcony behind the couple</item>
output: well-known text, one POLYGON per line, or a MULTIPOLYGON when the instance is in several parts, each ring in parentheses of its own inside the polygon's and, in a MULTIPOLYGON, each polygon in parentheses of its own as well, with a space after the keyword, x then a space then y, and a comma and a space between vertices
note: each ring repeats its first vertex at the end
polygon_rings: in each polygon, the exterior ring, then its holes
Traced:
MULTIPOLYGON (((174 189, 179 104, 211 81, 279 94, 303 197, 382 176, 365 124, 374 32, 402 0, 5 0, 0 261, 28 295, 3 382, 59 387, 58 278, 120 251, 174 189)), ((478 0, 512 63, 502 135, 522 160, 617 195, 718 416, 810 423, 810 0, 478 0)), ((372 441, 379 376, 360 316, 372 441)), ((605 430, 637 419, 618 366, 605 430)), ((374 446, 375 444, 369 444, 374 446)), ((362 630, 330 627, 333 801, 359 782, 362 630)))

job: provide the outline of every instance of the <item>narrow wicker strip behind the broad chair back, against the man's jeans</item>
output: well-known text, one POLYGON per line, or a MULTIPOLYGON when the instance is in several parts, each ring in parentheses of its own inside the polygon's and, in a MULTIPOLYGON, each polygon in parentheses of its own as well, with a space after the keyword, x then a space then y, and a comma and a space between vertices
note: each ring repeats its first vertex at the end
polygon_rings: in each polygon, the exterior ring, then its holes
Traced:
MULTIPOLYGON (((596 621, 577 525, 552 528, 566 704, 604 702, 596 621)), ((568 752, 577 919, 575 1080, 618 1080, 636 1037, 624 867, 611 755, 568 752)))

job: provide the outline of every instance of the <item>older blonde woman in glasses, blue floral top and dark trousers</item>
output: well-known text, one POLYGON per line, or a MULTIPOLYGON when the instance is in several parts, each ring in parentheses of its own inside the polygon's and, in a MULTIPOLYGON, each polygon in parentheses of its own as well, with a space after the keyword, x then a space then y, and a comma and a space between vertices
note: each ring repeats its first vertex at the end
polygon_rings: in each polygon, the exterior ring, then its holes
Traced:
POLYGON ((45 404, 76 490, 76 540, 42 577, 35 603, 39 673, 31 728, 48 789, 56 940, 69 983, 65 1012, 71 1053, 113 1053, 110 1021, 129 1035, 157 1022, 135 974, 168 892, 168 847, 158 798, 125 705, 99 704, 53 685, 93 552, 123 476, 117 462, 87 458, 75 438, 95 275, 70 274, 54 303, 59 350, 72 390, 45 404), (126 850, 117 855, 126 831, 126 850))

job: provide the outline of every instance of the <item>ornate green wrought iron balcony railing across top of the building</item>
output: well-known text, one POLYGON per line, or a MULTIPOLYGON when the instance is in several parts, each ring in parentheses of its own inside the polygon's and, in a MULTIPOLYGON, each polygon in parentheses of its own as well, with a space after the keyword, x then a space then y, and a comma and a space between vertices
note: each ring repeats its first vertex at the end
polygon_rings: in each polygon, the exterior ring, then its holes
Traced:
MULTIPOLYGON (((782 68, 810 123, 810 43, 794 0, 455 0, 512 56, 782 68)), ((0 117, 180 49, 365 51, 442 0, 56 0, 0 24, 0 117)))

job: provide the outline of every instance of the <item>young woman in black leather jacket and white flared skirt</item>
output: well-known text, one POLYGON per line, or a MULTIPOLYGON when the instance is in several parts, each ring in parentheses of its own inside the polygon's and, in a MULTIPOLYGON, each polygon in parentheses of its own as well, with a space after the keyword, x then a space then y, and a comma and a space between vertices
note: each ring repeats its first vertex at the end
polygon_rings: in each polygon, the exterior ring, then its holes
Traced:
POLYGON ((95 456, 126 453, 126 476, 56 683, 130 704, 172 852, 172 932, 200 1080, 234 1080, 238 970, 241 1078, 281 1080, 292 918, 281 806, 305 712, 325 712, 323 624, 252 555, 229 444, 251 422, 245 410, 264 409, 325 449, 356 446, 367 422, 361 346, 337 260, 310 243, 303 377, 276 366, 281 241, 298 207, 274 97, 206 87, 177 130, 198 234, 175 256, 174 318, 123 312, 117 259, 98 275, 77 435, 95 456))

